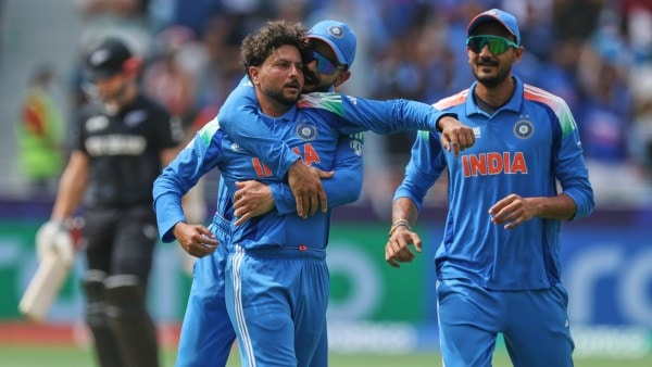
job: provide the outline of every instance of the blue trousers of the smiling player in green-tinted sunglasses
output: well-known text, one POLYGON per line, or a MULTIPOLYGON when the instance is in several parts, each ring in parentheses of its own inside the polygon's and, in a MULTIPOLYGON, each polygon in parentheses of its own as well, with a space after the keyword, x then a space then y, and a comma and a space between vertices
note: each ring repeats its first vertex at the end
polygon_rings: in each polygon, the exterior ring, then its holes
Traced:
POLYGON ((570 367, 575 346, 561 283, 549 289, 489 290, 463 279, 437 284, 439 340, 447 367, 491 366, 501 332, 514 367, 570 367))

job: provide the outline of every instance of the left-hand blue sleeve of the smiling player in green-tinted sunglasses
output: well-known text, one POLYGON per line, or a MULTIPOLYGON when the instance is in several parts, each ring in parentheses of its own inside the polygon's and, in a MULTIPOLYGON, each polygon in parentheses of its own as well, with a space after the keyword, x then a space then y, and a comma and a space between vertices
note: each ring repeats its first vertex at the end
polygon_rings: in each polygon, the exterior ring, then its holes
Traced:
POLYGON ((421 211, 426 193, 446 168, 446 157, 435 132, 419 131, 412 145, 405 177, 397 188, 393 201, 409 198, 421 211))

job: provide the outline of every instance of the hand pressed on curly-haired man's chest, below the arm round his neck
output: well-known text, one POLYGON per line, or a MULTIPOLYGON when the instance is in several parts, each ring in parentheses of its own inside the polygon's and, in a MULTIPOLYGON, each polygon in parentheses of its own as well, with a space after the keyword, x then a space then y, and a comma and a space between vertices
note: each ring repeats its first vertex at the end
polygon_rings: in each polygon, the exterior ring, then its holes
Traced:
POLYGON ((333 172, 324 172, 309 167, 301 160, 297 160, 288 170, 288 185, 294 200, 297 200, 297 214, 302 218, 313 215, 317 207, 322 206, 322 212, 326 213, 328 203, 326 201, 326 191, 322 186, 322 178, 333 177, 333 172))

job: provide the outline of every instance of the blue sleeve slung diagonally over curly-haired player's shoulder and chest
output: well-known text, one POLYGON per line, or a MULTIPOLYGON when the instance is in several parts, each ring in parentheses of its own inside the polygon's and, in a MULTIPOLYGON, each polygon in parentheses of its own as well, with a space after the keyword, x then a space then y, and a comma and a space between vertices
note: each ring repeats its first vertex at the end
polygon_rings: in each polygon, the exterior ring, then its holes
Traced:
POLYGON ((220 128, 240 147, 260 156, 272 168, 276 178, 283 180, 299 156, 287 143, 274 136, 259 116, 258 110, 255 91, 246 76, 220 109, 220 128))

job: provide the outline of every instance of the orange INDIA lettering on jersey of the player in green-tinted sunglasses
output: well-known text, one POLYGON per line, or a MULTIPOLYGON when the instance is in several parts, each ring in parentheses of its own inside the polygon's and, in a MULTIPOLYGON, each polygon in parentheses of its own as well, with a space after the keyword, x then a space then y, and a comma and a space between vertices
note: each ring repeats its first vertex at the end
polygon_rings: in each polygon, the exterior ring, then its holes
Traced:
POLYGON ((527 174, 523 152, 489 152, 462 156, 464 177, 498 174, 527 174))

